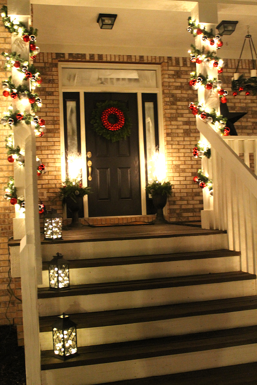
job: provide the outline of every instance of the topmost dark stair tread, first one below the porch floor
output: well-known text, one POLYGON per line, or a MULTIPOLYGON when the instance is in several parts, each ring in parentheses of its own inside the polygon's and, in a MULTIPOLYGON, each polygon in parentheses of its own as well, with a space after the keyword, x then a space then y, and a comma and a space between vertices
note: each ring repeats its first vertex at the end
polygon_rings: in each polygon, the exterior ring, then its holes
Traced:
MULTIPOLYGON (((232 250, 211 250, 211 251, 195 251, 193 253, 175 253, 175 254, 155 254, 155 255, 136 255, 125 257, 111 258, 88 258, 88 259, 71 259, 69 261, 70 269, 100 267, 100 266, 118 266, 139 263, 155 263, 155 262, 171 262, 184 261, 192 259, 205 258, 221 258, 230 256, 240 256, 240 251, 232 250)), ((48 261, 42 263, 42 269, 48 270, 48 261)))

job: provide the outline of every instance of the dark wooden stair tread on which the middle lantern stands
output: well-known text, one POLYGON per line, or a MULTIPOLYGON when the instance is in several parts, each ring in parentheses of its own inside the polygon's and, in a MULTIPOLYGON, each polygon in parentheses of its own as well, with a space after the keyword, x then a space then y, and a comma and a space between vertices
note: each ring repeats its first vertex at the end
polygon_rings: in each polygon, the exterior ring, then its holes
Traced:
POLYGON ((56 298, 75 295, 91 295, 102 293, 118 293, 123 291, 150 290, 169 287, 205 285, 229 281, 254 280, 255 274, 243 271, 226 273, 210 273, 168 278, 151 278, 148 280, 120 281, 107 283, 91 283, 86 285, 72 285, 66 291, 50 291, 49 288, 38 288, 38 298, 56 298))

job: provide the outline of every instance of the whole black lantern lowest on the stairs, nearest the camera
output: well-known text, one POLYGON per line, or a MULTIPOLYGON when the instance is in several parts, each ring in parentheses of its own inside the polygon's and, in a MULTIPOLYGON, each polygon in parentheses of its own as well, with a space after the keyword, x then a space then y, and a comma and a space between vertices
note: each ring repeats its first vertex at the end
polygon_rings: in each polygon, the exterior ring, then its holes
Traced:
POLYGON ((77 324, 62 313, 52 325, 54 357, 67 360, 77 356, 77 324))

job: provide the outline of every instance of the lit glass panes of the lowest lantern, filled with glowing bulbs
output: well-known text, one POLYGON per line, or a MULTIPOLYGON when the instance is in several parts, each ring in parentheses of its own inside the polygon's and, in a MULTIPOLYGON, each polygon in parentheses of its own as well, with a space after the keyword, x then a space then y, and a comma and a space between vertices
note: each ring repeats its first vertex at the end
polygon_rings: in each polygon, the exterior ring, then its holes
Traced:
MULTIPOLYGON (((53 328, 54 354, 65 359, 77 353, 76 326, 67 330, 53 328)), ((69 357, 70 358, 70 357, 69 357)))

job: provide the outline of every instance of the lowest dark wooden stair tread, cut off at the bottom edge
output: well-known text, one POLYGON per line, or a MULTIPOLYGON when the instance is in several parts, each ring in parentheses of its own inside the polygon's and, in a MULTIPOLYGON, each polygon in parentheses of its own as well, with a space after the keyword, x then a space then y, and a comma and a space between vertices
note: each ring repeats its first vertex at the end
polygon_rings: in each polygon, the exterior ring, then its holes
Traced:
POLYGON ((99 385, 256 385, 256 372, 257 362, 250 362, 99 385))

